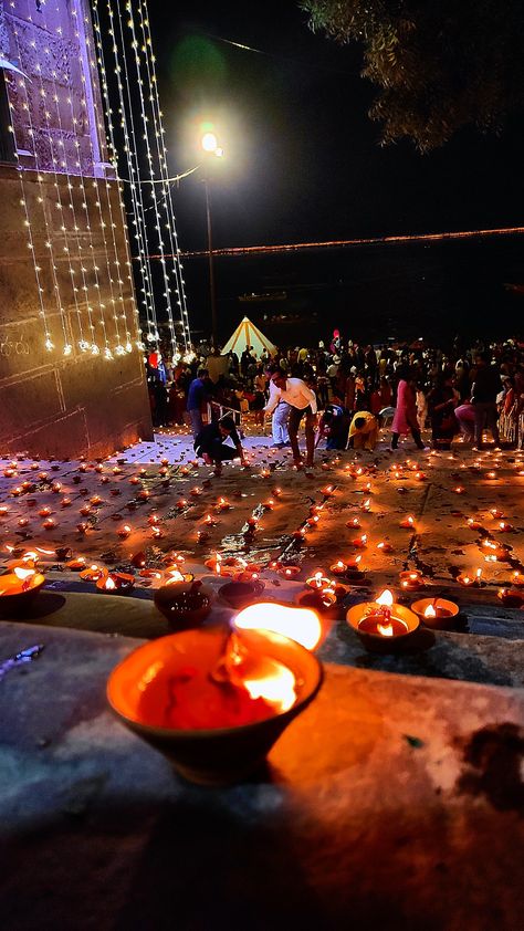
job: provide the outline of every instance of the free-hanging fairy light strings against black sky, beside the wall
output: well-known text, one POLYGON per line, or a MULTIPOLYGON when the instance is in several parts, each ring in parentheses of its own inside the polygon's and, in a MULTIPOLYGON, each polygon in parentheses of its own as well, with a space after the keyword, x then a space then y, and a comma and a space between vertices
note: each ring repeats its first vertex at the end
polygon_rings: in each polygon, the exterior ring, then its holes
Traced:
POLYGON ((104 8, 92 0, 92 8, 108 138, 129 181, 146 342, 158 347, 164 328, 177 359, 190 351, 191 335, 147 8, 143 0, 106 0, 104 8))

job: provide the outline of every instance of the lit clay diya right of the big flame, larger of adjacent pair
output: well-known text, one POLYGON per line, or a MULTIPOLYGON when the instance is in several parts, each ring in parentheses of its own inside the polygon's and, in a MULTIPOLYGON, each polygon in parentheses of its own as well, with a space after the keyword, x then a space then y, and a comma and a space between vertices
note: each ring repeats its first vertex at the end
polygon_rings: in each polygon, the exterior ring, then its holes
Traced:
POLYGON ((388 589, 376 602, 365 602, 349 608, 346 619, 371 650, 395 649, 399 641, 404 641, 419 627, 417 615, 404 605, 395 604, 388 589))

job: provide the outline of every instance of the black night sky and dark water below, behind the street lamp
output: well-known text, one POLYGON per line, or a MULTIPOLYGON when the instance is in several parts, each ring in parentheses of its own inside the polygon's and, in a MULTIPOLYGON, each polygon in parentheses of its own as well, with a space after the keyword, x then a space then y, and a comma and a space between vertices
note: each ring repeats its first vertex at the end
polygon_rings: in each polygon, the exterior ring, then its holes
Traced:
MULTIPOLYGON (((463 130, 426 156, 408 140, 381 148, 367 116, 374 88, 359 76, 359 49, 313 34, 295 3, 269 0, 239 15, 233 2, 150 0, 149 13, 170 170, 201 161, 203 119, 214 123, 226 151, 213 166, 216 248, 523 224, 522 121, 500 138, 463 130)), ((180 184, 175 210, 181 248, 206 249, 199 172, 180 184)), ((217 260, 221 329, 226 337, 245 312, 240 294, 280 287, 289 290, 280 310, 305 318, 313 307, 333 310, 336 320, 349 318, 349 329, 386 304, 378 329, 398 335, 420 326, 421 308, 428 323, 460 311, 464 325, 482 326, 495 303, 514 326, 524 300, 509 296, 503 282, 524 281, 523 247, 524 238, 512 238, 431 247, 431 257, 429 247, 375 247, 217 260)), ((186 273, 195 325, 206 329, 206 261, 188 259, 186 273)), ((273 306, 248 310, 271 328, 273 306)))

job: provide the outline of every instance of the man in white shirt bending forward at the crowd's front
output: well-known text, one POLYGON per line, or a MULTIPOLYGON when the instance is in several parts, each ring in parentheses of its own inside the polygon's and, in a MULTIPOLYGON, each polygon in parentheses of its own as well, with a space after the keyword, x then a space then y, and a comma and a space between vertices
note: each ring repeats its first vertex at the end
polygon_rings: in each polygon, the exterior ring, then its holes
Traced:
POLYGON ((312 467, 315 450, 316 395, 307 387, 302 378, 287 378, 282 369, 272 373, 270 383, 270 400, 264 410, 266 414, 272 414, 280 400, 290 405, 287 429, 293 450, 293 461, 297 468, 302 464, 301 451, 298 449, 298 427, 305 414, 306 466, 312 467), (274 388, 276 388, 275 391, 273 390, 274 388))

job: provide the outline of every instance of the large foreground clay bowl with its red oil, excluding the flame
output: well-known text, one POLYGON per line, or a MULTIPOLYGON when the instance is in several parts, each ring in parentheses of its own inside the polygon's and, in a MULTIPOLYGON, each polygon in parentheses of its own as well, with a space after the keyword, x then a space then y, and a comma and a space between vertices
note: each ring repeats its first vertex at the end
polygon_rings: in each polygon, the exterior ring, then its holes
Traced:
POLYGON ((323 678, 316 657, 294 640, 268 630, 241 631, 238 636, 250 660, 294 677, 296 693, 285 710, 274 705, 264 720, 252 723, 248 695, 240 716, 247 723, 214 726, 221 720, 221 709, 217 697, 208 700, 210 680, 223 659, 227 636, 223 628, 202 628, 153 640, 129 653, 107 683, 109 704, 120 721, 164 753, 182 776, 201 785, 228 785, 255 771, 287 725, 315 698, 323 678), (196 677, 195 689, 191 692, 189 682, 185 705, 185 683, 190 676, 196 677), (174 707, 178 715, 187 712, 188 726, 166 723, 174 707))

